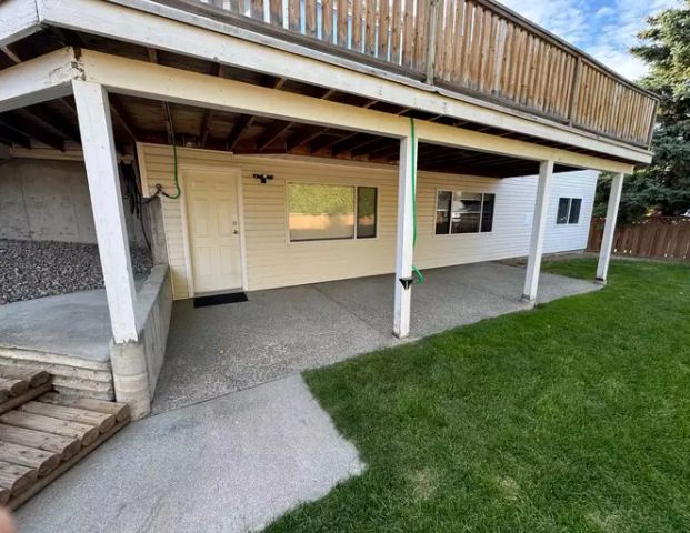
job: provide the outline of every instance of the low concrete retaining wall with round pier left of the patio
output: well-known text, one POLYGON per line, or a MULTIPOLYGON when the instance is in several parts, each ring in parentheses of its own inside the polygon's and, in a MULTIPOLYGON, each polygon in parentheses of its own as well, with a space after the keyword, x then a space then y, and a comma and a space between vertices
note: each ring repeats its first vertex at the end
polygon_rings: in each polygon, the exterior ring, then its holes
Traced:
POLYGON ((157 265, 137 293, 139 341, 112 344, 110 362, 116 399, 130 404, 132 416, 146 416, 166 355, 172 285, 167 265, 157 265))

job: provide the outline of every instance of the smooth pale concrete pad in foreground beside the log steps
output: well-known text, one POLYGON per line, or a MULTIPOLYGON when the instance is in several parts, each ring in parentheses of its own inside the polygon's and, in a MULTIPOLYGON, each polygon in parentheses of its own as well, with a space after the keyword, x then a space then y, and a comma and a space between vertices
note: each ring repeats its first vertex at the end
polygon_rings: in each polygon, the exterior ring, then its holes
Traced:
POLYGON ((17 520, 23 533, 256 531, 362 470, 292 376, 130 424, 17 520))

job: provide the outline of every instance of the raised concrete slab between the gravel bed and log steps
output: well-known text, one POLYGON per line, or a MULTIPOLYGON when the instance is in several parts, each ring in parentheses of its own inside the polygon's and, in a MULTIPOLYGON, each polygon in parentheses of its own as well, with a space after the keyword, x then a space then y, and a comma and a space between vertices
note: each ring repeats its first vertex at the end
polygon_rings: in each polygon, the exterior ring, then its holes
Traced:
MULTIPOLYGON (((137 275, 137 290, 146 275, 137 275)), ((70 355, 99 363, 110 359, 110 313, 103 289, 0 305, 0 346, 70 355)))

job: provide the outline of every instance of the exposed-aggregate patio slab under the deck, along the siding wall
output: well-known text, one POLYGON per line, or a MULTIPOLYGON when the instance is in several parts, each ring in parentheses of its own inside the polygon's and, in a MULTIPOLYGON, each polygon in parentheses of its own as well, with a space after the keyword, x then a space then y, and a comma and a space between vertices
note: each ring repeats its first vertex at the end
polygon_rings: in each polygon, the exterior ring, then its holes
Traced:
MULTIPOLYGON (((520 301, 520 268, 476 263, 424 275, 412 293, 412 338, 528 309, 520 301)), ((596 289, 590 282, 544 273, 539 300, 596 289)), ((394 345, 400 341, 392 336, 392 275, 251 292, 248 302, 211 308, 176 302, 153 410, 394 345)))

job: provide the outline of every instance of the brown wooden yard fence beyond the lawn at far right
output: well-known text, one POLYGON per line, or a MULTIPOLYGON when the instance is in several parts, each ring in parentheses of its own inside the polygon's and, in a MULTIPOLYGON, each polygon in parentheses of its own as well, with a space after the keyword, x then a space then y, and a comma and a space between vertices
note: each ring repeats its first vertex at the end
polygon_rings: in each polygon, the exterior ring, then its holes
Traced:
MULTIPOLYGON (((603 234, 603 218, 592 219, 587 249, 598 252, 603 234)), ((619 225, 613 253, 639 258, 690 260, 690 218, 650 217, 619 225)))

